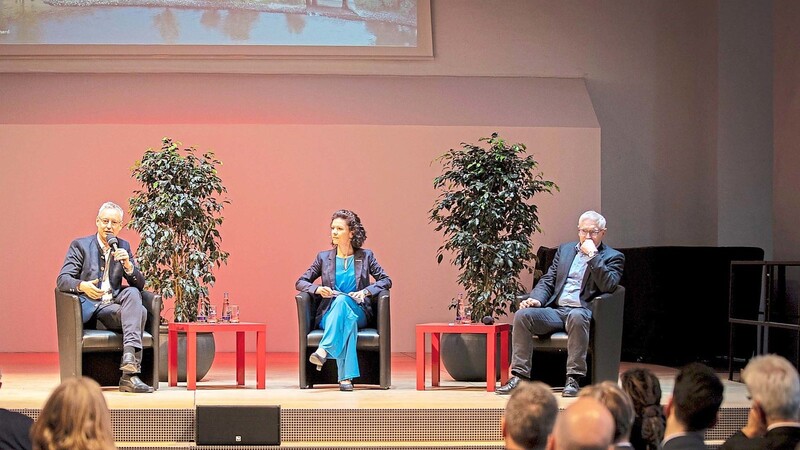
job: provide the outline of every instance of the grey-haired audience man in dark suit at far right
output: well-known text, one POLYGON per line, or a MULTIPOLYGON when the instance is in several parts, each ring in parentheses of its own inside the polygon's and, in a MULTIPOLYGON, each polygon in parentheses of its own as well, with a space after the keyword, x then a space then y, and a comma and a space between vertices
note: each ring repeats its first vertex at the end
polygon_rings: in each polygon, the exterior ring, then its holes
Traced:
POLYGON ((752 404, 747 425, 722 450, 794 450, 800 443, 800 378, 778 355, 756 356, 742 371, 752 404))

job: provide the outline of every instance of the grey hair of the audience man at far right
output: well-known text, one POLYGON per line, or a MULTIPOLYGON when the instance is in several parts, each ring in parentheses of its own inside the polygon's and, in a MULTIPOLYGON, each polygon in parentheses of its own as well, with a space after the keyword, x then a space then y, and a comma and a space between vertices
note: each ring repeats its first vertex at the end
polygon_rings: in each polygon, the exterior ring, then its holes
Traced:
POLYGON ((768 419, 798 419, 800 378, 797 369, 786 358, 756 356, 742 370, 742 381, 768 419))

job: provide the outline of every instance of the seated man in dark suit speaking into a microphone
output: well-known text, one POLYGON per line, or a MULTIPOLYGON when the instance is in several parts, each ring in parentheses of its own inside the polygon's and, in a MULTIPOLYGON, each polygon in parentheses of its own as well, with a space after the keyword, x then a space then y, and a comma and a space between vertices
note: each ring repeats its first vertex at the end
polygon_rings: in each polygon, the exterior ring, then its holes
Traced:
POLYGON ((142 306, 144 276, 136 266, 130 244, 117 238, 122 230, 122 208, 104 203, 95 224, 97 234, 75 239, 69 245, 56 280, 58 289, 80 297, 86 326, 99 321, 109 330, 122 331, 119 390, 153 392, 136 376, 141 371, 147 310, 142 306), (122 285, 123 279, 127 286, 122 285))

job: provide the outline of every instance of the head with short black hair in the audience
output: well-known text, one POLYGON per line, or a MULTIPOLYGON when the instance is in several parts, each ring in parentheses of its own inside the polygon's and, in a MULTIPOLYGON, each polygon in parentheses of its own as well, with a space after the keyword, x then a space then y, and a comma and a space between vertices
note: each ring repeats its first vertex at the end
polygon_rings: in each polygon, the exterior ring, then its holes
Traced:
POLYGON ((722 391, 722 381, 710 367, 691 363, 675 377, 668 415, 674 414, 686 431, 705 430, 717 421, 722 391))

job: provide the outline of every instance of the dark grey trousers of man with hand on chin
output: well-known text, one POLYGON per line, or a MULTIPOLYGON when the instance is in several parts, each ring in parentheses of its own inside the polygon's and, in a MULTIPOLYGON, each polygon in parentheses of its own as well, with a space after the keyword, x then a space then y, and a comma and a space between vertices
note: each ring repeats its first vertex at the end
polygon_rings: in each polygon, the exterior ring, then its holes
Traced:
POLYGON ((567 375, 586 376, 589 325, 592 311, 583 307, 525 308, 514 317, 511 337, 511 373, 531 377, 533 336, 567 332, 567 375))

